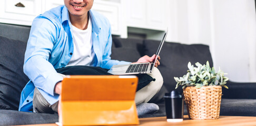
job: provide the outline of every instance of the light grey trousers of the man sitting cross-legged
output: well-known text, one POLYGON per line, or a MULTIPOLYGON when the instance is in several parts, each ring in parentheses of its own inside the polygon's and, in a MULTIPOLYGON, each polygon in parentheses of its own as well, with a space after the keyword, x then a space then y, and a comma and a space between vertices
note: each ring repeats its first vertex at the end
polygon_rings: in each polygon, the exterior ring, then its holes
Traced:
MULTIPOLYGON (((157 68, 154 68, 152 73, 149 74, 155 81, 151 81, 147 86, 136 92, 135 103, 140 104, 148 102, 162 87, 163 77, 157 68)), ((65 76, 65 75, 62 75, 65 76)), ((58 102, 54 104, 48 103, 41 95, 37 88, 34 90, 33 96, 33 112, 38 113, 54 113, 58 112, 58 102)))

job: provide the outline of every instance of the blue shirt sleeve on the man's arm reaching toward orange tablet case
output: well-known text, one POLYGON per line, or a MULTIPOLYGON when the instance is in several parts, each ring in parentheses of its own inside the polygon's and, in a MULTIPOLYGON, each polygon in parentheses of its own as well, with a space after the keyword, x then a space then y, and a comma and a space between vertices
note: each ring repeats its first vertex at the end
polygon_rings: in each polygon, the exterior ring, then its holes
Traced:
POLYGON ((32 24, 24 59, 24 73, 48 94, 54 96, 54 86, 63 80, 48 61, 56 40, 56 27, 46 18, 37 17, 32 24))

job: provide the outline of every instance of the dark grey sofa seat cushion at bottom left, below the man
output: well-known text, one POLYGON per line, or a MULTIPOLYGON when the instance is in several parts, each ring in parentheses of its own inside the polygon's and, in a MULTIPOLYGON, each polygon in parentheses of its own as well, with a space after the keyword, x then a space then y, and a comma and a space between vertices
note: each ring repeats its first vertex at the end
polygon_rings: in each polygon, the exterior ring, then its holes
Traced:
POLYGON ((0 125, 25 125, 58 122, 58 114, 0 110, 0 125))

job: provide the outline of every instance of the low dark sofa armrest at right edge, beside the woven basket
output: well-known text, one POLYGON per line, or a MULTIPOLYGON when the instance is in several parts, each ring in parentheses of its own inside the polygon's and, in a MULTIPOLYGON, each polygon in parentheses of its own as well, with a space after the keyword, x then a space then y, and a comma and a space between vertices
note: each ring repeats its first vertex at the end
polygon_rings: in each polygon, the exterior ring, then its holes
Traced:
POLYGON ((255 82, 232 82, 228 81, 229 89, 222 87, 223 99, 256 99, 255 82))

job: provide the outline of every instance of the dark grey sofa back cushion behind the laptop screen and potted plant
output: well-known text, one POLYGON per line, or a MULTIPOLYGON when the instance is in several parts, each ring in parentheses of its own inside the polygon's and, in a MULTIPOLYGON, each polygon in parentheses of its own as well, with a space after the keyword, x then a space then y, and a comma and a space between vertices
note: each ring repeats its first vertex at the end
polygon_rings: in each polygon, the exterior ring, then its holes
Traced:
MULTIPOLYGON (((149 56, 155 54, 159 44, 160 41, 157 40, 144 40, 145 54, 149 56)), ((192 64, 195 64, 195 62, 206 64, 206 61, 209 60, 210 66, 213 66, 209 46, 202 44, 185 45, 165 42, 160 52, 160 58, 160 66, 158 68, 164 80, 162 88, 166 88, 168 92, 175 89, 176 82, 173 78, 182 77, 186 74, 189 61, 192 64)), ((181 91, 181 87, 178 90, 181 91)), ((155 97, 158 97, 158 99, 155 98, 154 102, 163 100, 163 93, 165 92, 160 91, 157 93, 155 97)))

